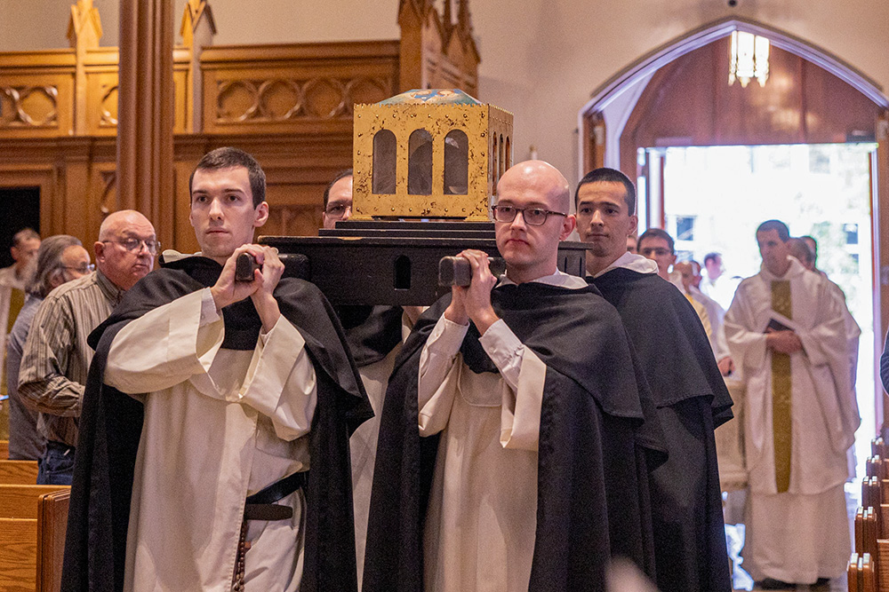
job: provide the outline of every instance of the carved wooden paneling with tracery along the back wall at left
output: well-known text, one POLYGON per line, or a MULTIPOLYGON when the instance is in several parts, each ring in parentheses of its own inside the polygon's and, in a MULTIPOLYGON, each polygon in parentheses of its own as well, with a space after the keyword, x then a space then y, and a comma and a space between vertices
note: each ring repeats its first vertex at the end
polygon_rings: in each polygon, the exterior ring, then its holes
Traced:
MULTIPOLYGON (((355 103, 431 86, 477 94, 469 4, 453 3, 456 18, 451 1, 439 14, 431 0, 402 0, 400 40, 213 47, 212 2, 188 0, 184 44, 173 51, 176 193, 172 205, 159 204, 175 210, 172 231, 161 232, 173 236, 166 246, 196 248, 188 174, 218 146, 240 146, 267 170, 271 212, 262 233, 315 234, 324 186, 351 166, 355 103)), ((87 244, 118 208, 119 55, 100 47, 100 37, 92 0, 77 0, 70 49, 0 53, 0 176, 41 186, 44 233, 87 244)))

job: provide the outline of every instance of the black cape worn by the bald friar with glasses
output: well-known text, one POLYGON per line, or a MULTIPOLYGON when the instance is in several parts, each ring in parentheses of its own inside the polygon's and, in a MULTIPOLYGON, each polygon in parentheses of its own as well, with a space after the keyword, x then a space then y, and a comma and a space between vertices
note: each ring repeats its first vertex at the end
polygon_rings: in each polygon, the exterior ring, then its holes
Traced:
MULTIPOLYGON (((389 380, 373 475, 365 592, 423 589, 422 533, 438 438, 420 438, 417 375, 423 344, 450 297, 420 317, 389 380)), ((648 406, 640 400, 641 375, 620 318, 595 288, 525 283, 494 289, 492 300, 547 365, 530 590, 605 589, 610 556, 629 556, 644 567, 653 563, 647 484, 638 479, 637 462, 640 446, 661 448, 656 421, 642 427, 648 406)), ((478 336, 470 325, 463 360, 474 372, 496 372, 478 336)))

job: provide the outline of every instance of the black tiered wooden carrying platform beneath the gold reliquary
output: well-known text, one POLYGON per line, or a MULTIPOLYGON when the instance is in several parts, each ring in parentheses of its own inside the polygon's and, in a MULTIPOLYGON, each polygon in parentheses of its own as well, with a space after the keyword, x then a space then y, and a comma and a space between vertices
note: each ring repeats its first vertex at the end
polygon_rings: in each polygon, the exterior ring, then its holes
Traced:
MULTIPOLYGON (((491 222, 340 222, 319 237, 262 236, 282 254, 304 255, 302 279, 331 304, 429 305, 451 288, 438 285, 438 262, 464 249, 498 257, 491 222)), ((583 277, 585 242, 563 241, 558 268, 583 277)))

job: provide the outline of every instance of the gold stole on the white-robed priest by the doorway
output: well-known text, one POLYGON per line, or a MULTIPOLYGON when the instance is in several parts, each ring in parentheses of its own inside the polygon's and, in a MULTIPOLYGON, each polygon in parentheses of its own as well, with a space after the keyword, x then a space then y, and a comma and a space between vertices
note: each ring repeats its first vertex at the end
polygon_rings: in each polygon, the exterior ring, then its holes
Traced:
MULTIPOLYGON (((772 282, 772 310, 793 319, 789 280, 772 282)), ((775 485, 778 493, 790 486, 790 356, 772 351, 772 432, 775 452, 775 485)))

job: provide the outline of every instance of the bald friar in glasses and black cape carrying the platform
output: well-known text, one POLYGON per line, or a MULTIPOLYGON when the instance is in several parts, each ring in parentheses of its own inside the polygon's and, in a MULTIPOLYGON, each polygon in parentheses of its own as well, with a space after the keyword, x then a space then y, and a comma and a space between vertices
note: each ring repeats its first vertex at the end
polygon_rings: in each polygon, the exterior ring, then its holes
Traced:
POLYGON ((364 592, 605 589, 612 553, 645 563, 643 395, 620 317, 557 270, 568 183, 522 162, 497 194, 505 275, 464 250, 471 284, 420 317, 396 362, 364 592))

